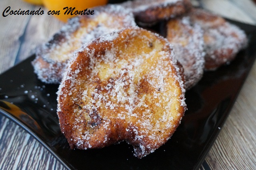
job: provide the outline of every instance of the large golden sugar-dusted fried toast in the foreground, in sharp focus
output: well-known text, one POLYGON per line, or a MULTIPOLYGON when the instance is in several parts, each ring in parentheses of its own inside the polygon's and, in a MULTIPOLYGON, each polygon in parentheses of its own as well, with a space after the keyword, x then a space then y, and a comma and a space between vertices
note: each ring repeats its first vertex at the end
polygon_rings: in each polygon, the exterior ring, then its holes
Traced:
POLYGON ((71 148, 126 141, 142 158, 164 144, 186 110, 182 68, 164 38, 138 27, 88 43, 58 91, 60 128, 71 148))

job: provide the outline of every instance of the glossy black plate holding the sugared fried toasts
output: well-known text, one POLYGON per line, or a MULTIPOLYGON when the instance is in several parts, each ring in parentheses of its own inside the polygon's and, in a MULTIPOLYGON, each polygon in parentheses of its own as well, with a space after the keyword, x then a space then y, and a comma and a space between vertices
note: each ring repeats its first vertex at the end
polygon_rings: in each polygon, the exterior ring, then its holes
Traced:
POLYGON ((121 142, 102 149, 71 150, 56 115, 57 85, 40 82, 24 60, 0 75, 0 113, 24 128, 66 168, 86 170, 197 170, 214 143, 256 58, 256 27, 230 21, 248 34, 248 48, 230 65, 206 72, 186 92, 188 110, 172 138, 138 159, 121 142), (13 103, 13 104, 11 104, 13 103))

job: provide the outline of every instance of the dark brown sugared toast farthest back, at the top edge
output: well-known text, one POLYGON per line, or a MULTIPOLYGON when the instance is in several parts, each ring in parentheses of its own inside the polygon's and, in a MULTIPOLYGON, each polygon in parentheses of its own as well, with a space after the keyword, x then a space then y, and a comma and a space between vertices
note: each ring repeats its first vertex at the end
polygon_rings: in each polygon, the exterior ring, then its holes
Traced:
POLYGON ((180 16, 192 7, 190 0, 133 0, 121 4, 129 8, 136 20, 154 23, 180 16))

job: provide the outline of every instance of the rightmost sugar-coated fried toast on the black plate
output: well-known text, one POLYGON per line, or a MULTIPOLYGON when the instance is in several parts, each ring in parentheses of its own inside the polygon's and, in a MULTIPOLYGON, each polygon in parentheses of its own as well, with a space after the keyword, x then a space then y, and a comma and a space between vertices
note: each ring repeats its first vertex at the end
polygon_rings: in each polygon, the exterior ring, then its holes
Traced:
POLYGON ((236 54, 245 48, 247 38, 244 31, 220 16, 200 9, 192 10, 189 16, 204 30, 205 70, 215 70, 232 61, 236 54))

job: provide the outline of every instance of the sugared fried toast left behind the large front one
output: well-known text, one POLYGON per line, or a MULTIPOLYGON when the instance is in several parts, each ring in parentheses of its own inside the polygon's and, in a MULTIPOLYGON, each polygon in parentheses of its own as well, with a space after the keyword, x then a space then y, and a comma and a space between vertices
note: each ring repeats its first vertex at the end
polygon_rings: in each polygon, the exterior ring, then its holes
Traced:
POLYGON ((72 18, 52 39, 40 46, 32 62, 42 82, 59 83, 69 59, 84 44, 114 30, 136 26, 133 14, 118 5, 94 9, 93 15, 72 18))

